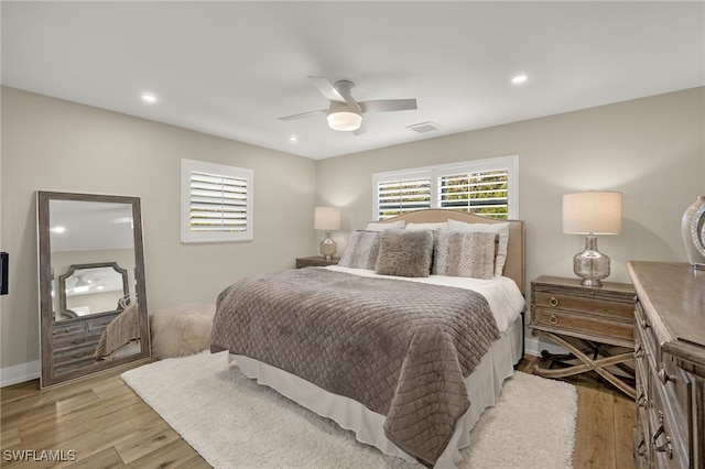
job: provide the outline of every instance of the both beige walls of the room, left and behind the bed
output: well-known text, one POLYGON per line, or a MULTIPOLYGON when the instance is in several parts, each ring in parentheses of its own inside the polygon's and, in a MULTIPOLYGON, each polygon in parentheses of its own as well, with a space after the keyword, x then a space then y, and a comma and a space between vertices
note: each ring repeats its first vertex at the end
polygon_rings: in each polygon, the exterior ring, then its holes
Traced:
POLYGON ((340 252, 347 233, 372 216, 375 172, 518 154, 527 279, 573 275, 584 238, 561 232, 563 194, 614 189, 625 195, 622 234, 599 237, 599 246, 612 259, 609 280, 627 282, 629 259, 685 260, 681 216, 705 194, 704 106, 705 88, 696 88, 312 161, 3 88, 0 239, 11 255, 11 294, 0 297, 0 366, 39 358, 36 189, 142 198, 154 309, 213 302, 237 277, 316 253, 316 204, 343 208, 344 227, 334 233, 340 252), (254 170, 252 242, 180 243, 182 157, 254 170))

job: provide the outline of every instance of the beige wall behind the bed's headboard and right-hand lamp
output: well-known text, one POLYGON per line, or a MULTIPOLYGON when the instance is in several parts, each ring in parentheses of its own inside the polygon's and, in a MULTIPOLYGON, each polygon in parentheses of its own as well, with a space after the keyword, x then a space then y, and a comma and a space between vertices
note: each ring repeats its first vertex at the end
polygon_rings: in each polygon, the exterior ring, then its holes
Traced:
POLYGON ((609 280, 628 282, 628 260, 686 260, 680 223, 705 194, 704 117, 705 88, 694 88, 338 156, 318 162, 318 203, 343 207, 343 248, 345 230, 372 217, 372 173, 518 154, 527 280, 573 276, 585 238, 562 233, 562 196, 609 189, 623 193, 622 233, 598 244, 609 280))

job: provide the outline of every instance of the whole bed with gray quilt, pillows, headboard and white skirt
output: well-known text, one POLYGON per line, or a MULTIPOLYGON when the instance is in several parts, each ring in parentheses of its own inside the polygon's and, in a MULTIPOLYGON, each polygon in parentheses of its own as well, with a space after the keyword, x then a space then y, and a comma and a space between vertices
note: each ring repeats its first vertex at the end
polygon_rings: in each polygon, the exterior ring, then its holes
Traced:
POLYGON ((524 225, 429 209, 365 228, 336 266, 224 290, 210 349, 364 444, 456 467, 523 353, 524 225))

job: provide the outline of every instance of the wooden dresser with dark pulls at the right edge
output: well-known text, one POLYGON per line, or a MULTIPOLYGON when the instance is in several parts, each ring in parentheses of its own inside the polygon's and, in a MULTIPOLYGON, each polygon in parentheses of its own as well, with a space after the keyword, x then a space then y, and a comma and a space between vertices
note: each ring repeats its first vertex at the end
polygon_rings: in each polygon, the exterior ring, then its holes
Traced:
POLYGON ((705 271, 627 263, 637 292, 639 468, 705 467, 705 271))

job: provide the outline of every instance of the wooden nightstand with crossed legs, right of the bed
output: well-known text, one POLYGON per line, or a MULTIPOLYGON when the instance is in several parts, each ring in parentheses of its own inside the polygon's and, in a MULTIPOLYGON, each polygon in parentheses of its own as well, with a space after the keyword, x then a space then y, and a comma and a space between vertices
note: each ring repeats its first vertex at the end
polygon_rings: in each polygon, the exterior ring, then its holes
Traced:
POLYGON ((546 378, 595 371, 636 399, 634 306, 631 285, 604 282, 581 285, 579 279, 540 276, 531 282, 531 323, 534 336, 546 337, 570 351, 568 356, 541 353, 549 368, 534 367, 546 378), (552 364, 561 368, 552 369, 552 364))

